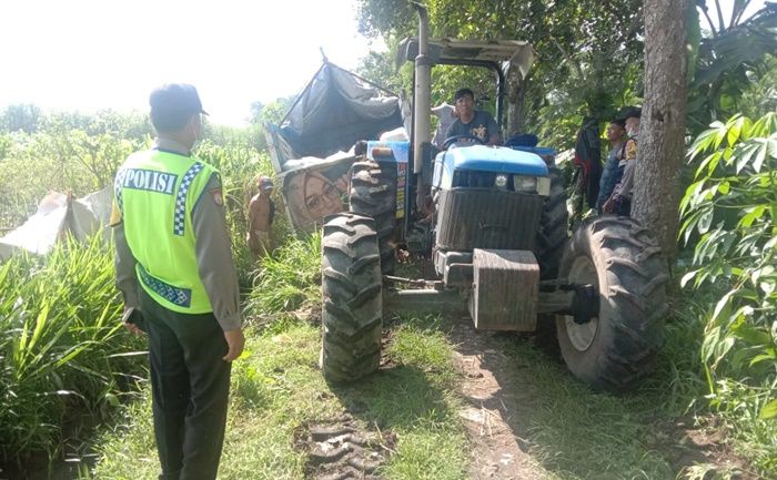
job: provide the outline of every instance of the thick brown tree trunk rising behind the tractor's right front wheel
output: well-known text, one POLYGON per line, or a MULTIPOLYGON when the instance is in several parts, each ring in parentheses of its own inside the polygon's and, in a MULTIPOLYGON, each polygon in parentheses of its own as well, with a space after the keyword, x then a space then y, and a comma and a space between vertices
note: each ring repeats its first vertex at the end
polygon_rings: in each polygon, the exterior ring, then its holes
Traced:
POLYGON ((684 157, 688 0, 645 0, 645 105, 632 216, 668 259, 677 253, 679 170, 684 157))

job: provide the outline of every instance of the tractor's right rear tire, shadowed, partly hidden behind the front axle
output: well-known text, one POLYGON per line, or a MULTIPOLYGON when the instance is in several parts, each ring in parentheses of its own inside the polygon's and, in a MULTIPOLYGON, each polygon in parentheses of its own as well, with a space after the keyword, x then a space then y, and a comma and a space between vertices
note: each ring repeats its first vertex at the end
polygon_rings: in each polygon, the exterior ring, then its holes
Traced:
MULTIPOLYGON (((555 280, 558 277, 558 265, 569 238, 569 213, 566 210, 564 177, 556 167, 549 167, 548 173, 551 194, 539 218, 539 229, 534 242, 541 280, 555 280)), ((556 336, 555 315, 539 315, 537 317, 536 343, 548 355, 559 358, 556 336)))

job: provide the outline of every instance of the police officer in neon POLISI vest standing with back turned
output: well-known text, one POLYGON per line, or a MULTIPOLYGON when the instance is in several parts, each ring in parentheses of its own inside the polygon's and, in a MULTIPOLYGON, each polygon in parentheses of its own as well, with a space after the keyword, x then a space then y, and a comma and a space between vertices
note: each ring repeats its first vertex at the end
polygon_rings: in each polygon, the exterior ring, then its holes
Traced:
POLYGON ((157 140, 114 182, 117 285, 124 325, 149 337, 160 479, 215 479, 245 341, 221 180, 191 153, 206 114, 194 86, 163 85, 150 104, 157 140))

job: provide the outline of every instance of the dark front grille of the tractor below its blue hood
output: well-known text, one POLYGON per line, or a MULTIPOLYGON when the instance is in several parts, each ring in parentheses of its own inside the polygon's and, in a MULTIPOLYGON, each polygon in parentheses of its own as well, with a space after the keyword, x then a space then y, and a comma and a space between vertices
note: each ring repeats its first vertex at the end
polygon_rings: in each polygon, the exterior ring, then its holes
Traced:
POLYGON ((437 247, 533 249, 545 197, 494 188, 441 192, 437 247))

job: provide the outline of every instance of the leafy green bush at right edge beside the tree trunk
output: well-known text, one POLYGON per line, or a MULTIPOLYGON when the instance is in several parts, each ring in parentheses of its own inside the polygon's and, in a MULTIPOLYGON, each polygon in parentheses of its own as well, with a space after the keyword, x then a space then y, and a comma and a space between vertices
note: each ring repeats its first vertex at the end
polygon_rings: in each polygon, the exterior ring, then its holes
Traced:
POLYGON ((710 406, 736 412, 749 452, 777 469, 777 113, 715 122, 690 146, 695 182, 680 203, 693 269, 680 284, 717 302, 702 360, 710 406))

